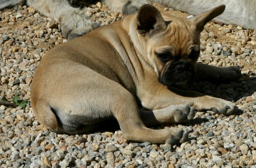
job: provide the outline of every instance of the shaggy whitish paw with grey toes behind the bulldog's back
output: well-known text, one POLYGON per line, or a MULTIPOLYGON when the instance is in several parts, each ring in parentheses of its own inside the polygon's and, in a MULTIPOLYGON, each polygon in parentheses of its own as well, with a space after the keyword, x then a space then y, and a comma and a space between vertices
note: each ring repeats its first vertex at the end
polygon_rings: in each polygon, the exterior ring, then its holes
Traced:
POLYGON ((82 36, 100 26, 86 15, 86 9, 73 9, 63 13, 60 17, 61 31, 64 38, 69 40, 82 36))

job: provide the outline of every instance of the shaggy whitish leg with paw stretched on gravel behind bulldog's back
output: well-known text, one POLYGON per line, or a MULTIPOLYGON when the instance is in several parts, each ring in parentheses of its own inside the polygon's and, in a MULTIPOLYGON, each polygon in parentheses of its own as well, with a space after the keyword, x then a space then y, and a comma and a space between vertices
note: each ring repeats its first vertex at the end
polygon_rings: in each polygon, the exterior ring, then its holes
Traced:
POLYGON ((74 39, 99 27, 85 14, 87 8, 74 8, 67 0, 28 0, 27 3, 44 16, 59 21, 65 38, 74 39))

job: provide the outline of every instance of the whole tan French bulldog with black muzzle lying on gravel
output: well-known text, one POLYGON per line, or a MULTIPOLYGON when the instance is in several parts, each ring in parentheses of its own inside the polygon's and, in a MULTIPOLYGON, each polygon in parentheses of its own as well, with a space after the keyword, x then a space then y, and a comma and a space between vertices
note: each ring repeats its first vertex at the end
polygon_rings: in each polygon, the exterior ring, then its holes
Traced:
POLYGON ((84 133, 115 117, 128 140, 186 141, 186 131, 146 126, 188 121, 195 110, 236 110, 229 101, 168 87, 189 82, 192 72, 206 80, 238 76, 238 67, 196 63, 204 24, 224 9, 185 19, 143 5, 138 14, 56 46, 41 60, 31 85, 36 117, 57 133, 84 133))

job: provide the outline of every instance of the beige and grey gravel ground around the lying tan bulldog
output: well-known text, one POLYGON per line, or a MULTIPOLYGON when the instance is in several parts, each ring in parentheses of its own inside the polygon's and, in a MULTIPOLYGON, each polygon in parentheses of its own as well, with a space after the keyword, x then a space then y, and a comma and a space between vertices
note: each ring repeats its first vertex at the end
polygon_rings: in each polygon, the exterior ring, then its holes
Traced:
MULTIPOLYGON (((92 19, 100 23, 122 17, 108 12, 100 3, 91 7, 92 19)), ((159 9, 188 16, 171 8, 159 9)), ((189 131, 188 142, 130 142, 118 129, 68 136, 40 125, 29 103, 30 84, 38 63, 49 49, 66 41, 60 24, 26 6, 0 11, 0 99, 13 102, 18 94, 21 100, 28 101, 25 108, 0 106, 0 167, 256 168, 255 38, 256 30, 212 22, 205 26, 199 61, 219 67, 240 66, 242 76, 225 84, 199 81, 193 89, 233 101, 239 110, 229 116, 198 112, 187 123, 159 127, 189 131)))

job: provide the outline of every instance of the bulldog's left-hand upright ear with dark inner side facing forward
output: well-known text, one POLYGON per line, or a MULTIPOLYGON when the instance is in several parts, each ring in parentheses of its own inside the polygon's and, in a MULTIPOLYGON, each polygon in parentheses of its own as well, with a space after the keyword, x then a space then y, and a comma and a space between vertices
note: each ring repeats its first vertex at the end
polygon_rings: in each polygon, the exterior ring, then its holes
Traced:
POLYGON ((140 7, 137 15, 137 30, 141 35, 150 32, 159 32, 166 29, 167 25, 161 13, 152 5, 145 4, 140 7))

